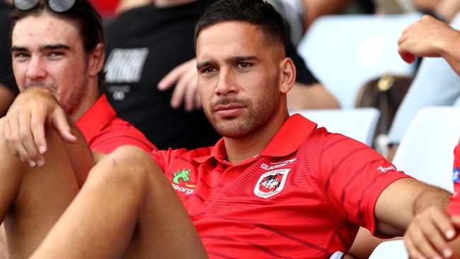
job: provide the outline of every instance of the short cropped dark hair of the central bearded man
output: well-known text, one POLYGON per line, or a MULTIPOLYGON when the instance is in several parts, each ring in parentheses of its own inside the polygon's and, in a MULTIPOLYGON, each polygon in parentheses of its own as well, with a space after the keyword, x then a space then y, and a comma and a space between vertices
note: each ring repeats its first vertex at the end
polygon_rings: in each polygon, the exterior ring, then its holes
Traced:
POLYGON ((210 5, 195 26, 198 35, 205 28, 225 21, 241 21, 260 26, 268 42, 284 46, 286 28, 280 13, 264 0, 219 0, 210 5))

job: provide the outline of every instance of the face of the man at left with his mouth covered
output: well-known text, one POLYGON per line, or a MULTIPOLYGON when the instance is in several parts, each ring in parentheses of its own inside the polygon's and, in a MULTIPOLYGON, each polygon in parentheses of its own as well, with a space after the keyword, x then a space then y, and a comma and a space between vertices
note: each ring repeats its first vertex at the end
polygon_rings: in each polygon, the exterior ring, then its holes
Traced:
POLYGON ((46 88, 67 113, 74 113, 88 86, 87 57, 76 26, 48 14, 28 16, 14 26, 11 43, 19 90, 46 88))

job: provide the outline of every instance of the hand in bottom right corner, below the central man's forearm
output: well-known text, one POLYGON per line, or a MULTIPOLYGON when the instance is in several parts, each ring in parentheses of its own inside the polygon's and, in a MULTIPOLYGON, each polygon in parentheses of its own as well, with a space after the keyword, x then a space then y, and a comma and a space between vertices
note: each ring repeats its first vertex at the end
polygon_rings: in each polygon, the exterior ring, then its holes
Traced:
POLYGON ((460 216, 431 207, 418 214, 408 227, 404 241, 410 258, 452 258, 449 245, 459 235, 460 216))

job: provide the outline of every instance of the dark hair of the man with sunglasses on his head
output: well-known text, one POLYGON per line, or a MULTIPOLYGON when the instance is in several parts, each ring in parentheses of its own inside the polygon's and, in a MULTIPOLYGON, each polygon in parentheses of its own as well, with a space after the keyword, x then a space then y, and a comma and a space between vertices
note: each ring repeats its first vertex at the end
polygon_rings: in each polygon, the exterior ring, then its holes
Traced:
MULTIPOLYGON (((27 11, 21 11, 18 8, 14 8, 14 11, 11 13, 11 31, 16 23, 22 18, 39 16, 42 13, 47 13, 57 18, 70 21, 76 25, 76 28, 79 29, 81 41, 83 42, 86 53, 91 52, 99 43, 105 44, 102 18, 100 18, 99 13, 91 6, 88 0, 76 0, 72 8, 62 13, 52 11, 48 7, 47 2, 48 0, 38 0, 38 4, 27 11)), ((101 70, 98 74, 98 88, 100 93, 103 93, 104 83, 105 73, 101 70)))

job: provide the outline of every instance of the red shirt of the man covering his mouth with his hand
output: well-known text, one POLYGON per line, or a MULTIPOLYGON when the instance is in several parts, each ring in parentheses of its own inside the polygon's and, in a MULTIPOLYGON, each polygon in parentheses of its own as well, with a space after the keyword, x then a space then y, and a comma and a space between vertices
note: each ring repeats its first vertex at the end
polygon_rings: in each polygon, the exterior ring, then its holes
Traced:
POLYGON ((91 150, 110 153, 118 146, 139 146, 145 151, 156 147, 133 125, 117 117, 105 95, 91 106, 76 122, 91 150))

